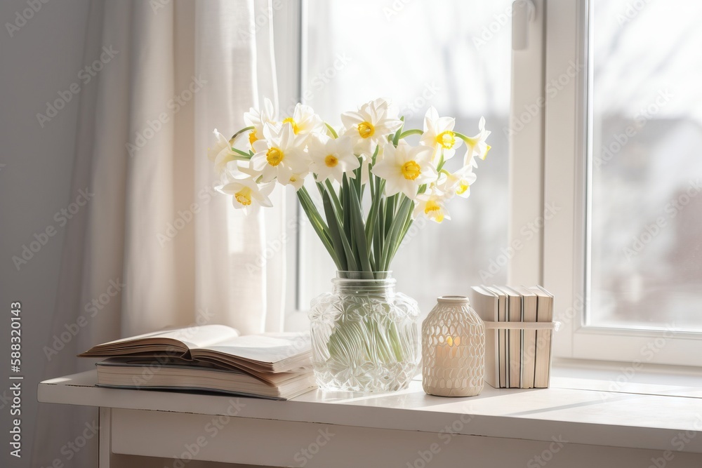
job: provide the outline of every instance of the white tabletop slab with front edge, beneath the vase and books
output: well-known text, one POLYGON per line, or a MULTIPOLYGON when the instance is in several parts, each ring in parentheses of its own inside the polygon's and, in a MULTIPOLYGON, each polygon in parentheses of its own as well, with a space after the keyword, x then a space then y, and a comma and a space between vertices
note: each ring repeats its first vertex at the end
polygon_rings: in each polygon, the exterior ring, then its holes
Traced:
MULTIPOLYGON (((556 373, 560 373, 556 369, 556 373)), ((680 434, 702 430, 702 398, 692 394, 621 393, 574 389, 574 380, 555 375, 550 389, 494 389, 486 386, 471 398, 425 394, 420 380, 392 394, 357 395, 310 392, 292 401, 246 399, 237 415, 260 420, 340 424, 441 434, 552 441, 635 449, 702 453, 702 437, 680 434)), ((591 387, 603 385, 593 380, 591 387)), ((164 393, 94 387, 95 371, 47 380, 38 399, 105 408, 219 415, 230 396, 164 393)), ((647 384, 651 385, 651 384, 647 384)), ((694 387, 696 388, 696 387, 694 387)), ((683 393, 684 389, 678 388, 683 393)))

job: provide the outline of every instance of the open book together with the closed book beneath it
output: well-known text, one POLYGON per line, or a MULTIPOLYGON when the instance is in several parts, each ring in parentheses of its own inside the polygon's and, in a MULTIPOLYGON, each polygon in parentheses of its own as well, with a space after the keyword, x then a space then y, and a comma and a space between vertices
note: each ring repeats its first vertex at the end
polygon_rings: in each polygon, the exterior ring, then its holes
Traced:
POLYGON ((88 349, 98 386, 223 392, 286 400, 316 388, 309 333, 240 336, 223 325, 147 333, 88 349))

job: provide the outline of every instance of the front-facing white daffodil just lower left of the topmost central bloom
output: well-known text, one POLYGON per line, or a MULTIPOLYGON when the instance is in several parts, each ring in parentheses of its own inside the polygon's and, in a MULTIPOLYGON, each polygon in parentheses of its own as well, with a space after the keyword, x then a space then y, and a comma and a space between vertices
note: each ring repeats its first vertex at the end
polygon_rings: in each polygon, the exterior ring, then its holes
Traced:
POLYGON ((358 158, 353 154, 353 145, 348 137, 329 138, 315 136, 307 145, 307 153, 312 160, 312 173, 317 174, 317 182, 332 179, 343 180, 346 174, 355 178, 353 171, 359 168, 358 158))

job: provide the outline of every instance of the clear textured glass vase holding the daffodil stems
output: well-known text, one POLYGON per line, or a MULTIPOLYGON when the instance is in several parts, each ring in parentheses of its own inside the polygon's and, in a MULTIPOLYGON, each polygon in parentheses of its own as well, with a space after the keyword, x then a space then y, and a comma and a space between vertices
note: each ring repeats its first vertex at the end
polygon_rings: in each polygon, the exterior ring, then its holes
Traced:
POLYGON ((395 292, 390 272, 337 272, 333 291, 312 300, 317 385, 344 392, 404 389, 420 361, 419 307, 395 292), (364 276, 376 279, 364 279, 364 276))

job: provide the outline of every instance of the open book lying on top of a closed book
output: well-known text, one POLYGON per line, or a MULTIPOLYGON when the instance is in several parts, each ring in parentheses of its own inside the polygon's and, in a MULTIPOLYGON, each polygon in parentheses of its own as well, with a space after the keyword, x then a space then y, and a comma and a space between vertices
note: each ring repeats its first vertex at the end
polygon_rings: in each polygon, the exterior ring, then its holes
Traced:
POLYGON ((203 325, 146 333, 88 349, 80 357, 173 356, 253 375, 304 370, 312 366, 309 333, 239 335, 224 325, 203 325))

